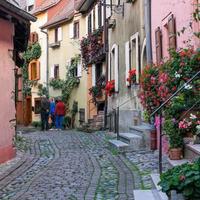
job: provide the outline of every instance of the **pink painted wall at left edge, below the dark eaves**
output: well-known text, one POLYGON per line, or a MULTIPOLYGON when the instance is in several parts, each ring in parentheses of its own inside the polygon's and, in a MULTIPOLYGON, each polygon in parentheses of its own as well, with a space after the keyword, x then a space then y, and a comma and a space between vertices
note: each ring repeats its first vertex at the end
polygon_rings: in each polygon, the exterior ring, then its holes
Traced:
POLYGON ((14 27, 9 21, 0 19, 0 163, 15 155, 12 138, 15 134, 10 120, 15 118, 15 104, 12 98, 14 90, 14 62, 12 60, 14 27))

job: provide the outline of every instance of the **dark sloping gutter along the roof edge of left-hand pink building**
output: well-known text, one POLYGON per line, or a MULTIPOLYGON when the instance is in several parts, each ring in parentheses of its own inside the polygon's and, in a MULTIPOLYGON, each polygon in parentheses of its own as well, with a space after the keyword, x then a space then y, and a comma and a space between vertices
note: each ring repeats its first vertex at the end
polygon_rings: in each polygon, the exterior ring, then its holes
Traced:
POLYGON ((9 3, 8 1, 0 1, 0 7, 3 7, 6 12, 11 12, 20 18, 35 22, 37 18, 28 12, 16 7, 15 5, 9 3))

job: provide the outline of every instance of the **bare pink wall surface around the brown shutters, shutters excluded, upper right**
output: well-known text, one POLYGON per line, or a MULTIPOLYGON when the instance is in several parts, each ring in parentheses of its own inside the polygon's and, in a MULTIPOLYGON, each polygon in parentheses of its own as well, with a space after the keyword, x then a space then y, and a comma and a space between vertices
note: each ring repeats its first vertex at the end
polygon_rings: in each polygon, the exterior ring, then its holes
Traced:
POLYGON ((195 10, 194 3, 197 0, 152 0, 151 6, 151 19, 152 19, 152 50, 153 50, 153 61, 156 61, 155 52, 155 30, 160 27, 163 36, 163 57, 168 57, 168 35, 165 28, 165 24, 168 22, 168 17, 173 14, 176 18, 176 30, 180 31, 183 27, 187 30, 184 34, 177 37, 177 47, 185 48, 188 44, 184 41, 191 39, 189 43, 195 48, 200 47, 200 40, 193 36, 193 32, 200 31, 200 23, 193 23, 193 30, 189 28, 189 24, 193 21, 192 13, 195 10))

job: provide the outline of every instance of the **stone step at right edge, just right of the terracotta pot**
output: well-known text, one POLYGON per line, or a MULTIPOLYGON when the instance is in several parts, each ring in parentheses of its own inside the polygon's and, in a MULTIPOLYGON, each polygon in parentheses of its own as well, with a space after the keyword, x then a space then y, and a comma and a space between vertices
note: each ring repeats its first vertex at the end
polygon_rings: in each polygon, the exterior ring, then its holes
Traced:
POLYGON ((184 149, 185 159, 194 160, 200 157, 200 144, 186 144, 184 149))

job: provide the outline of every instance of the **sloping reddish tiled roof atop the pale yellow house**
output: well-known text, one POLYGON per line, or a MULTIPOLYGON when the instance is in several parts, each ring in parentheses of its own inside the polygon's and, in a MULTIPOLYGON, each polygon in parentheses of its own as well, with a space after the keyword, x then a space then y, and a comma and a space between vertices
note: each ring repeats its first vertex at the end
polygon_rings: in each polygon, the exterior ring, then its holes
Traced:
POLYGON ((55 13, 55 15, 50 20, 48 20, 46 24, 42 26, 42 28, 53 27, 57 24, 72 19, 73 16, 74 16, 74 1, 68 0, 65 6, 63 6, 61 10, 58 10, 55 13))

